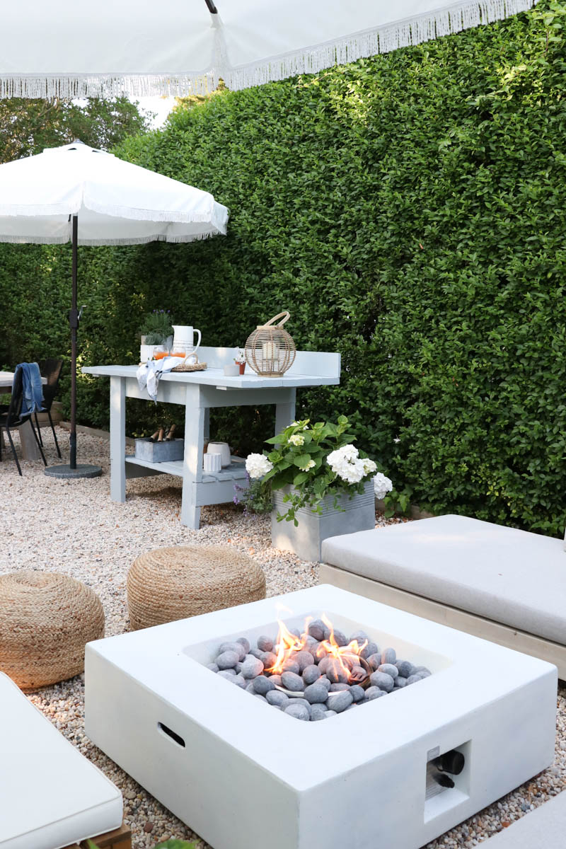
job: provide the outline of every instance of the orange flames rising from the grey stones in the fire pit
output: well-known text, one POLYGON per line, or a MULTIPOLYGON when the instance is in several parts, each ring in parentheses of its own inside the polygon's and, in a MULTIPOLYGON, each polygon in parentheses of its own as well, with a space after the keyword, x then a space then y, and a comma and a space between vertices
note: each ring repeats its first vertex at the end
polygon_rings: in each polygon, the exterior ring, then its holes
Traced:
MULTIPOLYGON (((334 638, 334 627, 328 616, 322 614, 322 621, 330 632, 327 639, 323 639, 317 646, 317 660, 321 661, 323 657, 330 658, 329 666, 333 667, 333 677, 344 678, 346 683, 355 680, 356 676, 352 676, 352 669, 360 666, 360 655, 363 649, 367 646, 367 640, 359 644, 356 639, 352 640, 347 645, 339 645, 334 638)), ((305 625, 300 633, 300 637, 289 631, 285 623, 278 619, 279 633, 277 634, 277 643, 274 650, 277 651, 277 660, 275 663, 266 669, 270 674, 281 674, 284 672, 287 661, 293 661, 294 655, 300 651, 310 651, 308 644, 309 624, 313 620, 312 616, 307 616, 305 625)))

